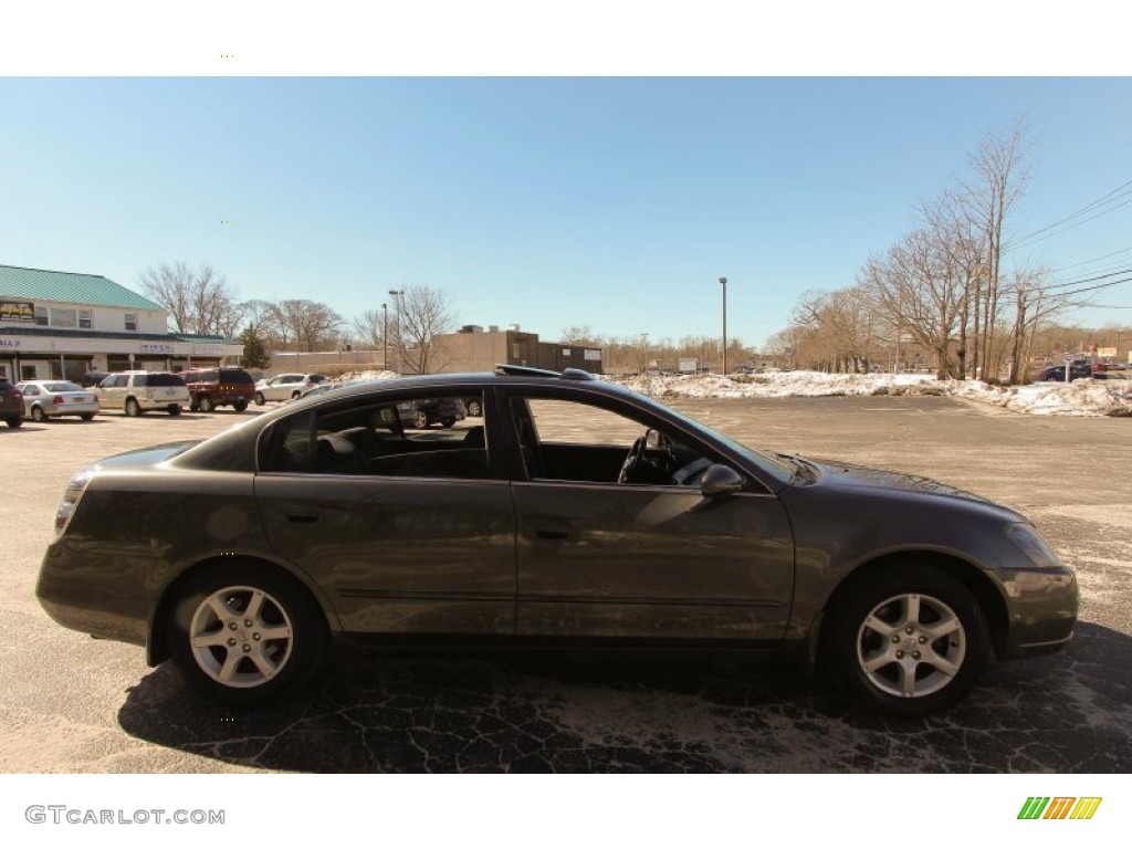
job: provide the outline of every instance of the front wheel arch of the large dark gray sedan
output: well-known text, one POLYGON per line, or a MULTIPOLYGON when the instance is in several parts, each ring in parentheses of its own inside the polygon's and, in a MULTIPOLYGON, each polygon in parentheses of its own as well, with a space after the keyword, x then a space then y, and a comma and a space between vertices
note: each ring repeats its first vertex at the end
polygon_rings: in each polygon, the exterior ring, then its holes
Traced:
POLYGON ((1001 655, 1004 653, 1010 616, 1006 610, 1006 601, 1003 599, 1002 592, 995 585, 994 581, 987 577, 977 565, 962 557, 944 551, 907 549, 891 551, 860 563, 834 588, 833 592, 825 600, 825 604, 822 606, 811 632, 811 663, 821 662, 822 660, 824 626, 829 618, 829 612, 834 610, 842 599, 860 584, 867 582, 871 576, 890 569, 906 568, 912 563, 934 566, 963 584, 975 597, 975 600, 983 609, 984 616, 986 616, 990 645, 995 654, 1001 655))

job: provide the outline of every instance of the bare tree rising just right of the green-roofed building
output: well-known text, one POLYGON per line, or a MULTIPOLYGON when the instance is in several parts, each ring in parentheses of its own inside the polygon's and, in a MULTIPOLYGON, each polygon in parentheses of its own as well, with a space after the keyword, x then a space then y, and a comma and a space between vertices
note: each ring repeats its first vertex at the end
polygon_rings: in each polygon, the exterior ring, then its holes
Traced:
POLYGON ((243 319, 235 291, 211 265, 194 271, 187 263, 164 263, 143 272, 142 290, 169 311, 178 333, 234 338, 243 319))

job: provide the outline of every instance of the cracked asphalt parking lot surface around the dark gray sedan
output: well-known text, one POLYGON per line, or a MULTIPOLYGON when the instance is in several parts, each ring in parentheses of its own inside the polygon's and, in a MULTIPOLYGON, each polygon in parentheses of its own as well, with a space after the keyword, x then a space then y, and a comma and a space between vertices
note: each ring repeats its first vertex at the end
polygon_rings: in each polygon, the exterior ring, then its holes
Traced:
POLYGON ((77 466, 258 411, 29 421, 0 428, 0 770, 1132 771, 1132 420, 943 397, 672 405, 753 446, 925 474, 1020 509, 1078 569, 1073 643, 992 666, 925 720, 860 715, 798 670, 730 660, 350 646, 309 697, 234 712, 140 649, 54 625, 34 586, 77 466))

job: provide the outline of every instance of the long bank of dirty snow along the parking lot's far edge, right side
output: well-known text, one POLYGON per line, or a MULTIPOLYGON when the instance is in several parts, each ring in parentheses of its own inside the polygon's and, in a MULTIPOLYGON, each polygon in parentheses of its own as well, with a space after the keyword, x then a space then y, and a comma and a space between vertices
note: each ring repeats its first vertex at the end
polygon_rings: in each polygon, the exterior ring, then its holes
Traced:
POLYGON ((1037 415, 1132 415, 1132 380, 996 387, 928 375, 637 375, 606 378, 657 398, 778 398, 818 395, 950 395, 1037 415))

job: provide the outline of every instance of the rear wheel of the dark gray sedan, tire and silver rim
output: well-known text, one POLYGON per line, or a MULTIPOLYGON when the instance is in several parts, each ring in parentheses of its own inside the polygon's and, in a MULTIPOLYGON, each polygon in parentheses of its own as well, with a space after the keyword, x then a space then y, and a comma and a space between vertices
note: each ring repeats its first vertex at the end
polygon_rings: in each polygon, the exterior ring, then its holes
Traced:
POLYGON ((237 704, 294 695, 323 664, 326 619, 291 576, 259 564, 223 563, 191 576, 169 621, 169 646, 185 681, 237 704))

